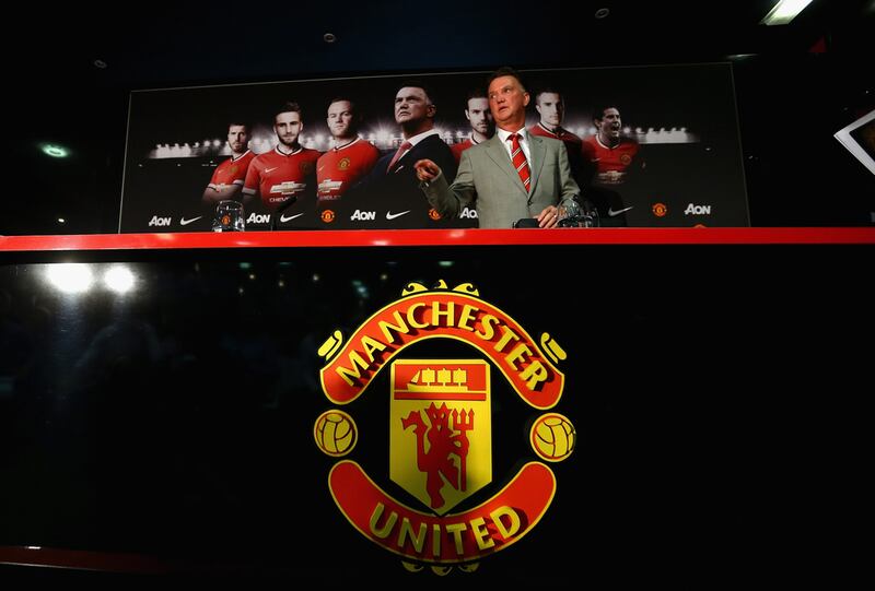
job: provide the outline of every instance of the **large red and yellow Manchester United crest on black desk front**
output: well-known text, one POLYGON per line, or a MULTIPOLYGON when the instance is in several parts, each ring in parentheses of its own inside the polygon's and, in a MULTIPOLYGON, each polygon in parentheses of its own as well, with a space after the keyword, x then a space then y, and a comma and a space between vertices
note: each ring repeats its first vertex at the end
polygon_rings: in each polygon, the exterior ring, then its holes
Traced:
POLYGON ((318 354, 325 359, 323 392, 336 405, 314 426, 317 447, 335 462, 330 494, 349 523, 399 555, 405 568, 428 566, 445 575, 455 566, 472 572, 481 559, 512 547, 545 517, 557 490, 550 464, 567 460, 576 440, 571 421, 551 411, 562 397, 564 375, 557 366, 567 354, 549 333, 533 339, 471 284, 450 288, 439 282, 428 288, 411 283, 400 299, 348 338, 334 331, 318 354), (407 347, 427 339, 467 343, 481 357, 404 356, 407 347), (369 474, 353 453, 359 427, 338 406, 362 397, 384 370, 389 391, 372 395, 389 400, 384 432, 388 471, 369 474), (498 476, 493 374, 506 379, 534 413, 528 430, 520 429, 528 434, 532 457, 520 458, 512 473, 498 476), (386 481, 400 487, 402 498, 381 486, 386 481))

